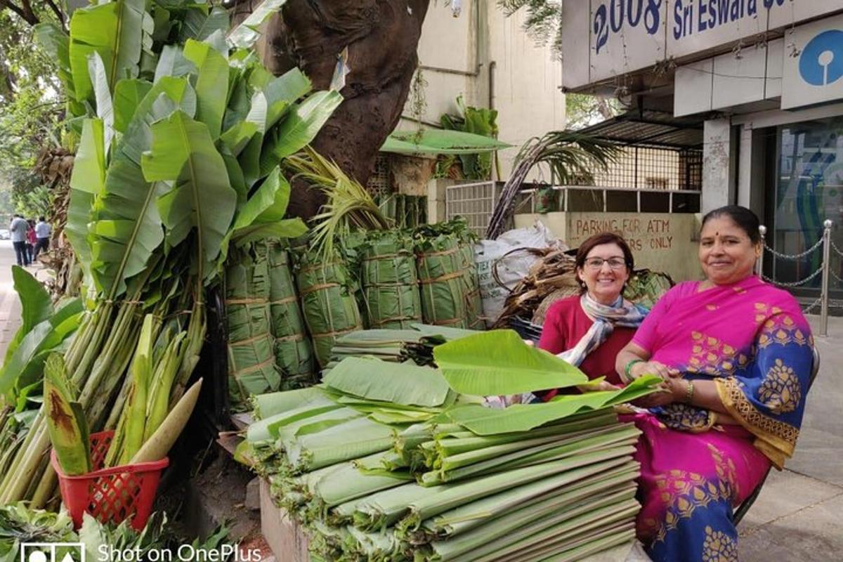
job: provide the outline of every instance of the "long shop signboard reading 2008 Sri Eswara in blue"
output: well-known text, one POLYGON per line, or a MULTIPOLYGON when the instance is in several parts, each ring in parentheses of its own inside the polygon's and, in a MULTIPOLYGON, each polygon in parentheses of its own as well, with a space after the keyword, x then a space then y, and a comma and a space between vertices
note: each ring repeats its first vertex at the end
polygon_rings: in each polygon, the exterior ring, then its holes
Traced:
POLYGON ((841 10, 843 0, 563 0, 562 82, 577 88, 749 46, 765 32, 841 10))

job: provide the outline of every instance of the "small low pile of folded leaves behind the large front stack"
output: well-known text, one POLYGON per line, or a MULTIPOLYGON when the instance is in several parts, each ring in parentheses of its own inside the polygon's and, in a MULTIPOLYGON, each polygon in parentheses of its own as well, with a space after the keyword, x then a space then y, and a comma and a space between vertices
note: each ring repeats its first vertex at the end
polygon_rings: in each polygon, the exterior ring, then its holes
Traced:
POLYGON ((476 334, 470 329, 443 329, 441 326, 413 324, 413 329, 361 329, 341 336, 330 351, 329 370, 346 357, 373 357, 381 361, 416 365, 433 364, 433 347, 446 341, 476 334))

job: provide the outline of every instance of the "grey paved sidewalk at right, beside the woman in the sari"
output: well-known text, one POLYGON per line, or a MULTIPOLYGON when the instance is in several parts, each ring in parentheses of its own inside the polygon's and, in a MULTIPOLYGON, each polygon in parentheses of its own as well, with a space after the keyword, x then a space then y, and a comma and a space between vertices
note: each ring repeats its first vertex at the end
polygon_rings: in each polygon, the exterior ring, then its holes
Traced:
MULTIPOLYGON (((810 316, 814 334, 819 316, 810 316)), ((808 394, 796 453, 771 471, 738 525, 742 562, 826 562, 843 559, 843 318, 829 318, 829 335, 815 335, 819 375, 808 394)))

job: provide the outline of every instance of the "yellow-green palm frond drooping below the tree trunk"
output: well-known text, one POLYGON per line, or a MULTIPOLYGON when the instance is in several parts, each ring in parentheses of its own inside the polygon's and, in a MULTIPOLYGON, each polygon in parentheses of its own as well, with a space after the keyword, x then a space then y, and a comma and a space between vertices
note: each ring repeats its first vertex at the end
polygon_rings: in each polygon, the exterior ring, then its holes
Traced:
POLYGON ((328 201, 313 217, 311 245, 326 258, 334 253, 336 238, 358 230, 384 230, 391 225, 366 188, 342 169, 306 147, 303 153, 285 160, 287 169, 322 190, 328 201))

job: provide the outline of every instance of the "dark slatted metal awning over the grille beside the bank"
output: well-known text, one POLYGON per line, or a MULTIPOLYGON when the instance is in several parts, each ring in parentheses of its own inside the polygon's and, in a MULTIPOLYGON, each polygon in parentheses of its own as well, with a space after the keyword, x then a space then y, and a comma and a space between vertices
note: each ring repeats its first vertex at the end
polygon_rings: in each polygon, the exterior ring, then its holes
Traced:
POLYGON ((626 146, 702 148, 702 120, 663 111, 633 110, 579 132, 626 146))

